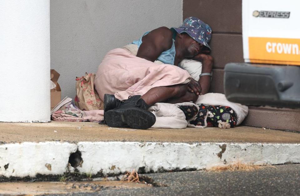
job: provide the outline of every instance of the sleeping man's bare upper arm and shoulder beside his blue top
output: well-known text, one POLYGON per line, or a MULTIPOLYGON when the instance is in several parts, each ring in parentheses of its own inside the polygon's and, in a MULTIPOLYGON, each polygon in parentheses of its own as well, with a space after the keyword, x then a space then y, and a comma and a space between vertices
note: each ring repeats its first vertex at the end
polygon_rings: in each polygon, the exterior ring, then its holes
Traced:
POLYGON ((154 62, 159 55, 172 47, 172 31, 167 27, 152 30, 142 38, 137 57, 154 62))

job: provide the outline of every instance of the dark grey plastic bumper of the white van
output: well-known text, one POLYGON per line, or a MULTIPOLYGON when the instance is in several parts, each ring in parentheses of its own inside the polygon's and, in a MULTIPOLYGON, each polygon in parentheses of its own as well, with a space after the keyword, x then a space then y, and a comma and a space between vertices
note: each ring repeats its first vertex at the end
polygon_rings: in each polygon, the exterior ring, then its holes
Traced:
POLYGON ((300 108, 300 66, 228 63, 224 91, 244 105, 300 108))

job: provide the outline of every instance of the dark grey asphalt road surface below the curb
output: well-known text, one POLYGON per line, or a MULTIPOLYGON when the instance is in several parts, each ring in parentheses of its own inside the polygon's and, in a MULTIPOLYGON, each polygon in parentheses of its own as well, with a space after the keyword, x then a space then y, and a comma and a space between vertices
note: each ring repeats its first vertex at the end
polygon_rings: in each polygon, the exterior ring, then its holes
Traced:
POLYGON ((147 174, 165 187, 105 189, 86 195, 300 195, 300 164, 242 172, 174 172, 147 174))

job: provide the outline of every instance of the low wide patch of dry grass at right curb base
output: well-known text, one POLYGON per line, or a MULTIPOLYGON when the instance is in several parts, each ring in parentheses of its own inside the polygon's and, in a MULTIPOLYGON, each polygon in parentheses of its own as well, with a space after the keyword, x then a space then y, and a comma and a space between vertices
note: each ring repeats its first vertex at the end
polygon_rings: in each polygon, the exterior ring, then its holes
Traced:
POLYGON ((208 168, 206 171, 208 172, 223 172, 223 171, 253 171, 257 169, 263 169, 263 168, 276 168, 273 165, 254 165, 253 163, 233 163, 230 165, 224 165, 224 166, 216 166, 212 168, 208 168))

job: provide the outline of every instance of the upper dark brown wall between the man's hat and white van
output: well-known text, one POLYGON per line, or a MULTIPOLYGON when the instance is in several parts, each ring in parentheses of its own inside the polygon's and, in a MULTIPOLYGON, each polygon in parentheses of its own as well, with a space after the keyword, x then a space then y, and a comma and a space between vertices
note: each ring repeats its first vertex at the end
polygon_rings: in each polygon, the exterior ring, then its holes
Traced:
POLYGON ((210 92, 224 93, 225 64, 243 62, 242 1, 183 0, 183 19, 189 16, 200 18, 212 28, 214 66, 210 92))

